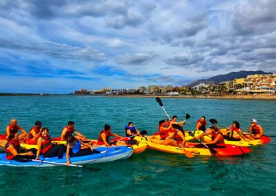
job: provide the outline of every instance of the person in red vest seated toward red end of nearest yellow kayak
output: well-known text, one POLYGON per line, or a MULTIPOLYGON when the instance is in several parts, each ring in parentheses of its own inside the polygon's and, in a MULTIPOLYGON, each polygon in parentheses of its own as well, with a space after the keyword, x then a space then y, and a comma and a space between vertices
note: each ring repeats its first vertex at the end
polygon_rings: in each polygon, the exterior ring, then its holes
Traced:
MULTIPOLYGON (((206 132, 201 133, 196 139, 199 139, 201 137, 204 137, 204 135, 209 135, 211 137, 211 141, 204 142, 207 146, 210 146, 210 148, 215 148, 217 146, 225 146, 224 144, 224 136, 219 132, 219 128, 217 126, 210 126, 206 132)), ((204 147, 203 144, 198 144, 195 147, 204 147)))

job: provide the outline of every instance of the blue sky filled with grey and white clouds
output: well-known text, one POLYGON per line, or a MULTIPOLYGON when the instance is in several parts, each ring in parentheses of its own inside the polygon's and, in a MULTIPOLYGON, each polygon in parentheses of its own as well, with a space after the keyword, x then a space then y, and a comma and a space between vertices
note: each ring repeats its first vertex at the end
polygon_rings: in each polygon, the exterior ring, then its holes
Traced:
POLYGON ((275 0, 0 0, 0 92, 275 73, 275 10, 275 0))

